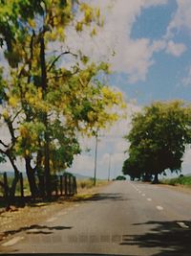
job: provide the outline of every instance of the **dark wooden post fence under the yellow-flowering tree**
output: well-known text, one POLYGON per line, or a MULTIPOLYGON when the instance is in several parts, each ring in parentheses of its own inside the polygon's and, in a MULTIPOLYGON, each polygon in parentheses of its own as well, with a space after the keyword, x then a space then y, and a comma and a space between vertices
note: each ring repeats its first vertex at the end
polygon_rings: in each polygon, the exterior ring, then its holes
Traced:
MULTIPOLYGON (((10 177, 7 173, 0 175, 0 198, 4 200, 9 200, 11 182, 13 176, 10 177)), ((44 175, 35 175, 36 184, 39 190, 38 198, 45 198, 45 176, 44 175)), ((59 197, 73 197, 77 193, 76 178, 71 174, 64 175, 51 175, 51 191, 52 195, 59 197)), ((15 199, 24 200, 25 198, 30 198, 29 194, 29 184, 24 182, 23 174, 19 174, 19 179, 16 184, 15 190, 15 199)))

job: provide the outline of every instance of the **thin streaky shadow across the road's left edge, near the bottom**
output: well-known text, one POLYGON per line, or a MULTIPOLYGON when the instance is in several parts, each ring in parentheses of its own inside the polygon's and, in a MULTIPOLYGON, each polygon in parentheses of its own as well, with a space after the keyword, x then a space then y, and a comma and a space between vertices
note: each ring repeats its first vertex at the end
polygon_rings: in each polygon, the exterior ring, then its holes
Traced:
POLYGON ((25 226, 14 230, 6 231, 4 234, 5 236, 14 235, 16 233, 27 231, 28 234, 52 234, 53 230, 64 230, 64 229, 71 229, 72 226, 47 226, 47 225, 31 225, 25 226))

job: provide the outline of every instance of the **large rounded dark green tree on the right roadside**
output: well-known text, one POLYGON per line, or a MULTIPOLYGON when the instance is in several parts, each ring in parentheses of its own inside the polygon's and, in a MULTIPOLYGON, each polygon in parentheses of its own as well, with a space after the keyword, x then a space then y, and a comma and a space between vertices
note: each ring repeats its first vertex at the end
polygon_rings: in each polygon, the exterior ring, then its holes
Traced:
POLYGON ((191 141, 190 106, 180 101, 154 103, 134 116, 132 129, 126 136, 130 142, 130 157, 123 172, 158 175, 166 169, 181 169, 185 145, 191 141), (131 171, 130 171, 131 169, 131 171))

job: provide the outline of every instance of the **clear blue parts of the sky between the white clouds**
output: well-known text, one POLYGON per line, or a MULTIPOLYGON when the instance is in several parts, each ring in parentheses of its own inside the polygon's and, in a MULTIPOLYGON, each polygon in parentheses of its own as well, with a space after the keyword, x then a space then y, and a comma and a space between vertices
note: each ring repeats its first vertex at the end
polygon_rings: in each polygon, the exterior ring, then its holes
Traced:
MULTIPOLYGON (((127 1, 128 2, 128 1, 127 1)), ((183 1, 181 1, 183 2, 183 1)), ((187 3, 191 4, 189 1, 187 3)), ((150 41, 162 40, 167 28, 178 10, 176 0, 166 4, 142 9, 131 29, 133 40, 149 38, 150 41)), ((147 70, 144 80, 128 81, 128 74, 117 72, 111 77, 111 83, 126 94, 128 99, 135 98, 138 105, 149 105, 152 101, 182 99, 190 101, 191 83, 186 81, 191 65, 191 34, 189 28, 182 26, 173 35, 176 43, 181 43, 186 50, 175 56, 162 50, 152 56, 152 65, 147 70)))

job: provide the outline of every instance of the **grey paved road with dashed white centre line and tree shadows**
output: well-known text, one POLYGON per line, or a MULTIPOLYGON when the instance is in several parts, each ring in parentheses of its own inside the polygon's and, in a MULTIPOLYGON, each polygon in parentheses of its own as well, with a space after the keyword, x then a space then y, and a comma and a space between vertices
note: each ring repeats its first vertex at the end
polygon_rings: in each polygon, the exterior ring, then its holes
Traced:
POLYGON ((115 181, 96 197, 15 232, 7 253, 191 255, 191 194, 115 181))

